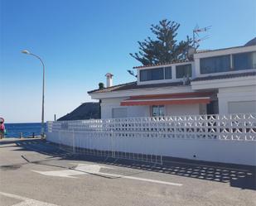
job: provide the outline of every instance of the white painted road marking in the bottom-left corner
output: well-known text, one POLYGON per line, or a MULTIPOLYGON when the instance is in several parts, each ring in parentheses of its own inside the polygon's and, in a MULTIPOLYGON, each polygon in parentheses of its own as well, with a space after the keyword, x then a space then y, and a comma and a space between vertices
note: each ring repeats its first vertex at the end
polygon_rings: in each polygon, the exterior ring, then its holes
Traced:
POLYGON ((41 202, 41 201, 38 201, 36 199, 29 199, 29 198, 26 198, 26 197, 22 197, 22 196, 19 196, 17 194, 9 194, 9 193, 3 193, 3 192, 0 192, 0 194, 2 194, 3 196, 6 196, 8 198, 22 200, 21 203, 13 204, 12 206, 35 206, 35 205, 36 206, 58 206, 57 204, 48 204, 46 202, 41 202))

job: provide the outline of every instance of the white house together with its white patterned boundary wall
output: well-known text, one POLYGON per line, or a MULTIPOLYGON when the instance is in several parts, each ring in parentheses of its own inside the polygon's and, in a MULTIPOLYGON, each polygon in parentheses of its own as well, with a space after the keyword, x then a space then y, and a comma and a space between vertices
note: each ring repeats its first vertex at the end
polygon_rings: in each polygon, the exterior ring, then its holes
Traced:
POLYGON ((171 156, 255 166, 256 44, 189 59, 135 67, 137 81, 126 84, 113 86, 106 74, 107 88, 89 91, 102 119, 48 122, 47 140, 80 154, 154 164, 171 156))

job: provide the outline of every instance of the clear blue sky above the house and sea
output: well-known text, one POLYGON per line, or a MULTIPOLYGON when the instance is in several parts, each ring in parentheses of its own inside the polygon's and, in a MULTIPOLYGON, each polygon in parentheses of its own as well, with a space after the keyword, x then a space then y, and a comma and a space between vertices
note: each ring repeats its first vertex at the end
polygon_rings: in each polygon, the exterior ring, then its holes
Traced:
POLYGON ((46 64, 46 120, 90 101, 88 90, 114 74, 133 81, 130 52, 167 18, 179 22, 178 40, 193 28, 212 26, 200 49, 241 46, 256 36, 256 1, 0 0, 0 117, 41 121, 41 65, 46 64))

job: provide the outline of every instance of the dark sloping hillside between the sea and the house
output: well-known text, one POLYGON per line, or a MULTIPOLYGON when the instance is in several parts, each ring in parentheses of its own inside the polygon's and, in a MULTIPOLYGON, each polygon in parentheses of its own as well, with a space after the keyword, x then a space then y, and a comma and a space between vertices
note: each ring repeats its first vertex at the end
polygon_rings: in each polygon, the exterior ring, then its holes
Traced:
POLYGON ((99 103, 82 103, 74 111, 60 117, 57 121, 79 119, 99 119, 99 103))

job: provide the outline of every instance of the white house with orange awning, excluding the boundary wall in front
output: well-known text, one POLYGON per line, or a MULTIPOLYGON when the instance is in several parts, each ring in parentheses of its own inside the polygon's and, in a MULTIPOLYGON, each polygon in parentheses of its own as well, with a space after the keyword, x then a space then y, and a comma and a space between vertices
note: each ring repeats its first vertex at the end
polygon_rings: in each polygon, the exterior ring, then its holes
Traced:
POLYGON ((137 81, 89 91, 101 117, 256 113, 256 45, 196 51, 192 60, 142 65, 137 81))

